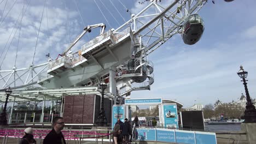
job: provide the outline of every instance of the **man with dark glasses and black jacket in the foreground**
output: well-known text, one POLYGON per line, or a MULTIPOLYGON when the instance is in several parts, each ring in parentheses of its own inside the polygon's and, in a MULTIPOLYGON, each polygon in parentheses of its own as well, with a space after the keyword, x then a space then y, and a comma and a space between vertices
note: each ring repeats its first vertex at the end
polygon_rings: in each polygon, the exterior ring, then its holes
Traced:
POLYGON ((66 144, 61 130, 64 128, 65 122, 62 117, 53 119, 53 130, 44 138, 43 144, 66 144))

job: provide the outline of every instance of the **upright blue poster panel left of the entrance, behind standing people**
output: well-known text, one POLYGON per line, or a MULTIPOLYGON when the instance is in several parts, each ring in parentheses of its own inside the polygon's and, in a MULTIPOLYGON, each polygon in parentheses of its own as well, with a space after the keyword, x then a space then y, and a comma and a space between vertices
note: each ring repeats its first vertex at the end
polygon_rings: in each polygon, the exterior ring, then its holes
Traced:
POLYGON ((124 106, 123 105, 113 105, 113 111, 112 111, 112 129, 115 126, 115 123, 117 123, 117 119, 120 118, 122 122, 124 122, 124 106))

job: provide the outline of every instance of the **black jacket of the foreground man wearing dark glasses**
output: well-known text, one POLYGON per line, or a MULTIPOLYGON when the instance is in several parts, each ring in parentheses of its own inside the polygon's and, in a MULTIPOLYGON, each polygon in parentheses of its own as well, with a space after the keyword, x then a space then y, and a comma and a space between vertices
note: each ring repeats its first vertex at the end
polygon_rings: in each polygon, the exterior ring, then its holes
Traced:
POLYGON ((53 129, 45 136, 43 144, 62 144, 61 139, 63 139, 63 142, 66 144, 63 134, 61 132, 57 134, 53 129))

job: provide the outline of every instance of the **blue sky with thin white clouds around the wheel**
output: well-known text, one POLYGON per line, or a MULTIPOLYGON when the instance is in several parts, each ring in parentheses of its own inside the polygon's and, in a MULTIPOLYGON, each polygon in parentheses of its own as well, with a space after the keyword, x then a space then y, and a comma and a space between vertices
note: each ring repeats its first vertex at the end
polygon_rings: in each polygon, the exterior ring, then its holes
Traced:
MULTIPOLYGON (((48 0, 44 7, 44 2, 3 0, 0 3, 1 70, 11 69, 14 65, 24 68, 32 62, 47 62, 45 55, 48 52, 55 59, 84 26, 103 22, 107 29, 118 28, 124 20, 130 19, 126 8, 133 13, 149 3, 138 4, 136 0, 48 0), (21 28, 16 30, 20 19, 16 25, 15 22, 22 11, 25 13, 21 28), (16 33, 10 44, 13 37, 9 41, 8 38, 12 31, 13 35, 16 33)), ((255 4, 253 0, 229 3, 218 0, 215 4, 209 1, 199 12, 205 22, 201 40, 194 45, 185 45, 181 35, 177 34, 151 53, 148 59, 154 63, 155 82, 150 91, 134 91, 131 98, 172 99, 184 107, 197 103, 214 104, 218 99, 228 103, 245 93, 236 74, 240 65, 248 71, 249 94, 256 98, 255 4)), ((85 34, 72 50, 80 49, 99 32, 100 29, 95 29, 85 34)))

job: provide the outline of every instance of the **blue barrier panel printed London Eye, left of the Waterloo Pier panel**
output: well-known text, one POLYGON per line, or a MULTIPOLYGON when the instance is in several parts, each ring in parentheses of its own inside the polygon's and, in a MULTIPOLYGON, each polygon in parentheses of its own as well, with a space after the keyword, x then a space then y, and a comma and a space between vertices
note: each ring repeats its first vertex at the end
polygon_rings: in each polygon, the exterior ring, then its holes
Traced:
POLYGON ((156 128, 156 141, 176 142, 175 131, 171 129, 156 128))

